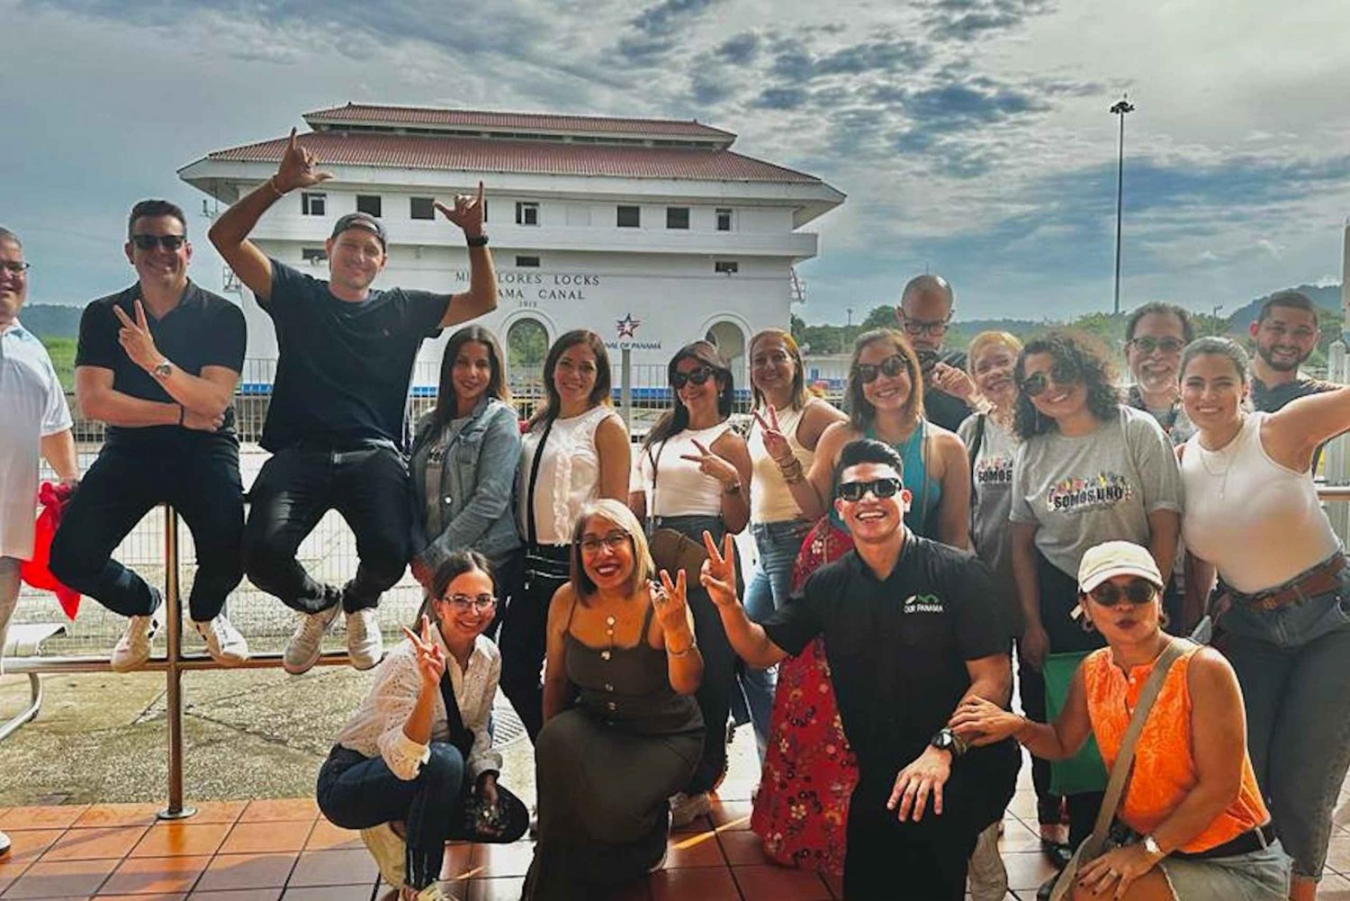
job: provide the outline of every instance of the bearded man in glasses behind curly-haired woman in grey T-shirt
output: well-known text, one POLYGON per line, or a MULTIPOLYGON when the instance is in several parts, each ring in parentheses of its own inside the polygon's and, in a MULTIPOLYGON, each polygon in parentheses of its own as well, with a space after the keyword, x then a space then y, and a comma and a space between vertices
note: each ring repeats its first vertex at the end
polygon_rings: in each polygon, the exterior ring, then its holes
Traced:
POLYGON ((1125 403, 1158 420, 1173 447, 1195 435, 1177 382, 1181 351, 1193 338, 1191 313, 1176 304, 1143 304, 1125 326, 1125 362, 1134 376, 1125 403))

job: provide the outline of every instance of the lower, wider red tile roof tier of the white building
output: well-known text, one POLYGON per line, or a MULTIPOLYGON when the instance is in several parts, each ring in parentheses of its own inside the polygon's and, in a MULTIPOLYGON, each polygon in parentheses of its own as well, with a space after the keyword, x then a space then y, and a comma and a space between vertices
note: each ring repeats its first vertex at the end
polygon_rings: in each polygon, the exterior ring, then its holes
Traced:
MULTIPOLYGON (((320 165, 448 169, 468 173, 540 173, 612 176, 617 178, 687 178, 821 184, 815 176, 742 157, 725 149, 647 147, 551 140, 502 140, 437 135, 320 131, 300 135, 320 165)), ((208 159, 271 162, 281 159, 285 138, 228 150, 208 159)))

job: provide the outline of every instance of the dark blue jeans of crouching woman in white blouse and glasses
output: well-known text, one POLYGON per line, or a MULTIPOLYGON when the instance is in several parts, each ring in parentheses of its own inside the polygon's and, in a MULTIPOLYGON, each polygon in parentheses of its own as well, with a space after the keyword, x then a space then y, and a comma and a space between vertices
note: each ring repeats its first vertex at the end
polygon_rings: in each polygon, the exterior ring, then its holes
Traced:
POLYGON ((412 779, 400 779, 383 758, 338 746, 319 770, 319 809, 333 825, 369 829, 408 824, 408 885, 425 889, 440 874, 446 839, 463 820, 464 758, 459 748, 431 743, 431 758, 412 779))

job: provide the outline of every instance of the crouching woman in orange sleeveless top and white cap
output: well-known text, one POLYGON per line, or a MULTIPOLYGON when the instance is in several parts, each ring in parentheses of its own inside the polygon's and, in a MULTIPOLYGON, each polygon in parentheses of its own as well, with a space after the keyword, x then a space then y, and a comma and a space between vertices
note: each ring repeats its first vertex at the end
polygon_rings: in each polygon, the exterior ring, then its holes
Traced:
MULTIPOLYGON (((1107 647, 1083 661, 1060 717, 1033 723, 971 698, 953 715, 952 728, 973 744, 1013 735, 1049 761, 1076 754, 1091 729, 1110 767, 1158 655, 1183 642, 1162 632, 1162 585, 1146 548, 1130 542, 1089 548, 1079 566, 1079 609, 1107 647)), ((1247 758, 1238 679, 1216 651, 1183 644, 1145 720, 1115 813, 1129 836, 1079 870, 1075 900, 1288 897, 1289 859, 1274 839, 1247 758)))

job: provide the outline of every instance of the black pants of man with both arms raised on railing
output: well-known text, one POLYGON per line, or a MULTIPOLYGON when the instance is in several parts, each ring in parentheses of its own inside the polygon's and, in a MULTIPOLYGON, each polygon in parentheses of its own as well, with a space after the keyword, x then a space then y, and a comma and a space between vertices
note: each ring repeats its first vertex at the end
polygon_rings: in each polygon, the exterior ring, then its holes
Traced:
POLYGON ((342 589, 348 613, 379 604, 408 565, 413 496, 408 462, 392 446, 355 450, 288 447, 263 463, 250 496, 244 569, 281 602, 317 613, 338 592, 313 580, 296 548, 319 520, 338 511, 356 536, 356 575, 342 589))

